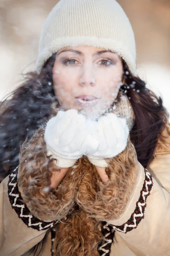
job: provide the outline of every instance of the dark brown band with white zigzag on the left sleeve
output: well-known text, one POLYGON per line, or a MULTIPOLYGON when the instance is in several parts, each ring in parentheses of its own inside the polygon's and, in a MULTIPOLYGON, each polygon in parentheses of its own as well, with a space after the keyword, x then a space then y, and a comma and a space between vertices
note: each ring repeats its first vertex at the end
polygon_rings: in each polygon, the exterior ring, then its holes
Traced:
POLYGON ((17 213, 18 217, 27 225, 36 230, 46 230, 53 227, 58 221, 45 222, 34 217, 26 204, 23 203, 23 198, 19 192, 17 186, 17 169, 14 169, 13 173, 9 175, 8 181, 8 198, 11 203, 12 208, 17 213))

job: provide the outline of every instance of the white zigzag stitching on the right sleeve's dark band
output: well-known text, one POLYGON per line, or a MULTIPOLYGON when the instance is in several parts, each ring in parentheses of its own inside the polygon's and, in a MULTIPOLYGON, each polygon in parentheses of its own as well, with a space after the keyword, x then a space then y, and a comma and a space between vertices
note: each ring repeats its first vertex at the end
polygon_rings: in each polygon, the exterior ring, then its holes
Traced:
POLYGON ((140 209, 140 213, 139 214, 134 214, 133 215, 133 223, 134 224, 125 224, 125 227, 124 227, 124 229, 123 230, 121 230, 121 229, 119 229, 119 228, 117 228, 117 227, 115 227, 115 226, 113 226, 113 228, 114 229, 116 229, 116 230, 118 230, 118 231, 120 231, 120 232, 122 232, 122 233, 126 233, 126 230, 127 230, 127 227, 136 227, 136 217, 143 217, 143 212, 142 212, 142 206, 145 206, 145 204, 146 204, 146 195, 148 195, 148 193, 149 193, 149 190, 148 190, 148 186, 147 185, 151 185, 152 184, 152 180, 150 179, 150 173, 147 171, 146 172, 146 176, 148 177, 148 179, 150 180, 150 181, 146 181, 146 189, 147 189, 147 192, 144 192, 144 191, 142 191, 142 198, 143 198, 143 200, 144 200, 144 203, 142 204, 142 203, 140 203, 140 202, 138 202, 138 207, 139 207, 139 209, 140 209))

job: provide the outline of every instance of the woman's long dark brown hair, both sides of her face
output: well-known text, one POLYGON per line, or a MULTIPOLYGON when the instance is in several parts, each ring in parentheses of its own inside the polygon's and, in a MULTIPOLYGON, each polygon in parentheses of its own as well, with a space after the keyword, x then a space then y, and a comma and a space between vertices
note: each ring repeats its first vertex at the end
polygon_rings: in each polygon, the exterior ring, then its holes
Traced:
MULTIPOLYGON (((20 146, 31 138, 51 116, 57 102, 53 90, 52 68, 56 54, 44 64, 41 73, 27 73, 23 84, 0 104, 0 178, 3 180, 19 164, 20 146)), ((130 99, 136 117, 130 132, 139 162, 146 167, 153 156, 161 129, 167 120, 162 100, 133 76, 123 61, 125 84, 120 90, 130 99)))

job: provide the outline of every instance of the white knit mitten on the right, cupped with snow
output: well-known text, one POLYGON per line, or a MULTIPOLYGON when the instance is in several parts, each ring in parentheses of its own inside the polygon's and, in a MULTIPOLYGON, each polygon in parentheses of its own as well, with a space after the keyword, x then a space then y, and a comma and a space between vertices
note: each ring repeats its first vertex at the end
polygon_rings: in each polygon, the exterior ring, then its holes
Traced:
POLYGON ((129 129, 125 119, 117 117, 114 113, 102 116, 93 133, 99 146, 95 153, 91 152, 89 148, 87 152, 89 161, 96 166, 108 166, 104 158, 111 158, 120 154, 127 145, 128 134, 129 129))

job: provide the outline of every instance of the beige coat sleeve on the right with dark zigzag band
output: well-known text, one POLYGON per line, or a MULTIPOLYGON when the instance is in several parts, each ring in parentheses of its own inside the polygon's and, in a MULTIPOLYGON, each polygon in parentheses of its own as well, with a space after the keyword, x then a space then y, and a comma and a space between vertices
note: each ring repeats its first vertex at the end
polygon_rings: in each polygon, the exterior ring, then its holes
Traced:
POLYGON ((138 256, 170 256, 170 147, 165 144, 159 144, 147 170, 139 164, 124 213, 107 221, 138 256))

